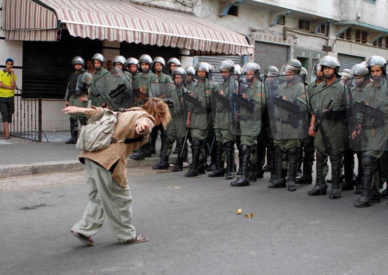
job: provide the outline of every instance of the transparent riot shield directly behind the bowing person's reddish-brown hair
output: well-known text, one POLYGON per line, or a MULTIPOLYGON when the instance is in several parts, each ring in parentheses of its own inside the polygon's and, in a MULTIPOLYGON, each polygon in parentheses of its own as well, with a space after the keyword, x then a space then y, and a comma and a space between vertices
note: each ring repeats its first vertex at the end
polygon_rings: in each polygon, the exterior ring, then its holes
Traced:
POLYGON ((171 121, 165 131, 168 136, 184 138, 186 135, 186 112, 181 100, 181 92, 184 91, 187 92, 183 85, 178 87, 172 82, 150 83, 150 97, 161 98, 170 109, 171 121))

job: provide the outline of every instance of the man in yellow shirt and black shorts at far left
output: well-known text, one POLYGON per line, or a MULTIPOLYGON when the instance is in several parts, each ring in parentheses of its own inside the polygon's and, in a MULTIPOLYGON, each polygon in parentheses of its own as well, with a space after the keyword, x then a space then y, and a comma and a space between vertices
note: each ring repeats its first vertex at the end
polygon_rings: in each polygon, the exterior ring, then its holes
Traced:
POLYGON ((12 122, 12 115, 15 111, 14 96, 16 86, 16 75, 14 74, 14 60, 5 60, 5 69, 0 71, 0 113, 3 122, 3 138, 9 137, 9 123, 12 122))

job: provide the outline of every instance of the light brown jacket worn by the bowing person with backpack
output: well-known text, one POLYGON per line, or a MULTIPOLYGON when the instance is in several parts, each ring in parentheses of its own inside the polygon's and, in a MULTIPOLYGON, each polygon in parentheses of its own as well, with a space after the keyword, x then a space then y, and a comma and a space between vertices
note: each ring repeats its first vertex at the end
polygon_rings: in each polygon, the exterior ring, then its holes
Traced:
MULTIPOLYGON (((88 117, 92 117, 100 113, 102 109, 101 107, 92 106, 85 114, 88 117)), ((112 143, 100 151, 82 151, 78 158, 82 163, 84 158, 88 158, 103 168, 110 170, 113 172, 113 179, 121 187, 126 188, 128 185, 127 158, 130 153, 146 143, 147 136, 154 127, 155 119, 142 108, 134 107, 130 111, 119 113, 116 126, 114 127, 113 138, 118 138, 119 140, 124 138, 138 138, 140 136, 136 134, 135 126, 140 122, 146 122, 148 124, 148 128, 143 133, 143 136, 146 136, 143 141, 129 144, 125 144, 124 142, 112 143)))

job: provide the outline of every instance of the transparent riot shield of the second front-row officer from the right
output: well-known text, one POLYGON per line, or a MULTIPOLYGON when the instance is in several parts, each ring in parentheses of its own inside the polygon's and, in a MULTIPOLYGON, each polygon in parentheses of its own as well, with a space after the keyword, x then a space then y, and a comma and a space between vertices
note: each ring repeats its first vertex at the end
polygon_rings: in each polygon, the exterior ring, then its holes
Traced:
POLYGON ((316 137, 314 146, 327 148, 332 155, 339 155, 347 149, 347 109, 344 85, 337 78, 330 85, 325 82, 309 98, 309 106, 315 116, 316 137))

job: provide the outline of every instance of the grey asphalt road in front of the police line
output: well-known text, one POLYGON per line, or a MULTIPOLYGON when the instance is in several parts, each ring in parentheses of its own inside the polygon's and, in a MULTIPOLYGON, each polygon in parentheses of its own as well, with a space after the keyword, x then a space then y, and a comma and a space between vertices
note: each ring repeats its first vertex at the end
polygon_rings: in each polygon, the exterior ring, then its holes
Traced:
POLYGON ((387 274, 387 199, 358 209, 352 191, 269 189, 269 173, 240 188, 150 168, 129 178, 132 222, 149 241, 122 245, 106 223, 94 247, 70 233, 87 203, 83 171, 1 179, 0 274, 387 274))

